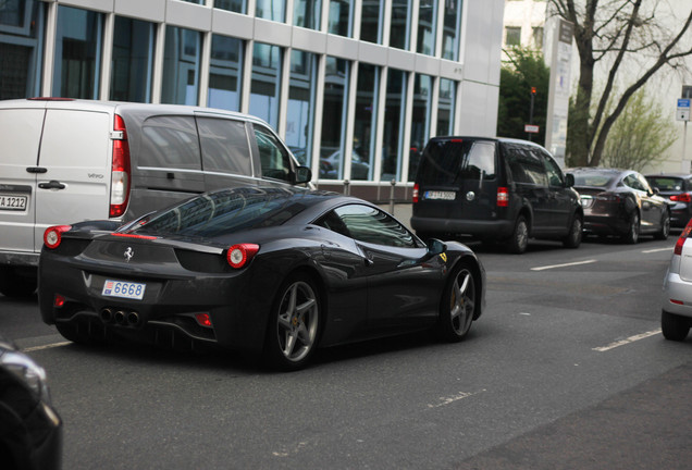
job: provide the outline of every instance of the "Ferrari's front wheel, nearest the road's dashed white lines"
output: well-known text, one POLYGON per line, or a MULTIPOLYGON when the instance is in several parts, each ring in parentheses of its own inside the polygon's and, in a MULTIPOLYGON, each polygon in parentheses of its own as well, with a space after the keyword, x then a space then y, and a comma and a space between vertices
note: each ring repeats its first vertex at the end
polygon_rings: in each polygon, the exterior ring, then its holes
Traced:
POLYGON ((475 284, 475 275, 468 263, 460 263, 449 276, 440 300, 437 334, 442 339, 460 342, 471 330, 478 308, 475 284))

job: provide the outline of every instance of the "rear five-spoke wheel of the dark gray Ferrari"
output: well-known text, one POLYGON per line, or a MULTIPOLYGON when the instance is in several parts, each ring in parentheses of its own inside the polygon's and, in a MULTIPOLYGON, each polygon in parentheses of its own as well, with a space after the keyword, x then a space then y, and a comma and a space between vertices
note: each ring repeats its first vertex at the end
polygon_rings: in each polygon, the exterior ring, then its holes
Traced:
POLYGON ((306 274, 284 281, 267 326, 264 359, 281 370, 304 368, 314 352, 320 331, 320 293, 306 274))

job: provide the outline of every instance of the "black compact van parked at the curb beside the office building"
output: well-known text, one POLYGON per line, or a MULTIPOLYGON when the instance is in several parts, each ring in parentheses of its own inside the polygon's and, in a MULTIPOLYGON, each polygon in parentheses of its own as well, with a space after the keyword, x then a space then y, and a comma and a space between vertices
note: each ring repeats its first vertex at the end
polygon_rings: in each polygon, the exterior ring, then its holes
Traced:
POLYGON ((411 226, 423 239, 470 235, 526 251, 530 237, 577 248, 583 212, 573 177, 528 140, 434 137, 413 187, 411 226))

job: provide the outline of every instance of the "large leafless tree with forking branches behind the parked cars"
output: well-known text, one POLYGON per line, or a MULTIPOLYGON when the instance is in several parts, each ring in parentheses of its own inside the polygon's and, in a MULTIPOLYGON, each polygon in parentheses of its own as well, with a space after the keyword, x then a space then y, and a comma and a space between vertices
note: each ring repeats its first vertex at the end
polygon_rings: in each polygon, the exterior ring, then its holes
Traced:
POLYGON ((579 83, 567 132, 568 164, 597 166, 608 133, 628 100, 662 67, 682 67, 683 59, 692 55, 692 9, 679 9, 683 16, 662 22, 660 0, 549 0, 549 8, 552 14, 573 23, 579 51, 579 83), (671 24, 678 26, 671 29, 671 24), (596 65, 607 71, 600 97, 594 91, 596 65), (617 97, 611 96, 616 86, 623 90, 617 97), (611 110, 608 100, 614 103, 611 110))

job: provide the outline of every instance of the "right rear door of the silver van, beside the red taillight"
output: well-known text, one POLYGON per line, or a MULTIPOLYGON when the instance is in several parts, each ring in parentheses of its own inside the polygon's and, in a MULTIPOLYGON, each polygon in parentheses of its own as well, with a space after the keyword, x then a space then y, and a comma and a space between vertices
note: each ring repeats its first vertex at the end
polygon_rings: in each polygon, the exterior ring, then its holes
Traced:
POLYGON ((36 251, 50 225, 108 219, 112 126, 113 116, 106 111, 46 111, 36 188, 36 251))

